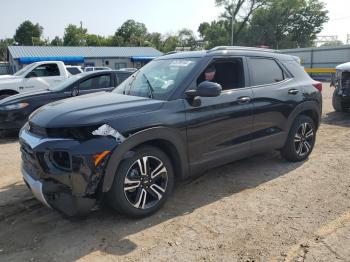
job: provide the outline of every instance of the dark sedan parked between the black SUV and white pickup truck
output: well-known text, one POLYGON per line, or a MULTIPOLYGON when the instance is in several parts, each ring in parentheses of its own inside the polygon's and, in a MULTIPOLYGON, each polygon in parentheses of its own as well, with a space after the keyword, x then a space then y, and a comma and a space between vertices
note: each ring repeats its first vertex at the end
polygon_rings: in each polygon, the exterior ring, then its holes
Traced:
POLYGON ((19 130, 29 115, 48 103, 100 91, 111 91, 131 75, 124 71, 95 71, 72 76, 45 91, 26 92, 0 101, 0 131, 19 130))

